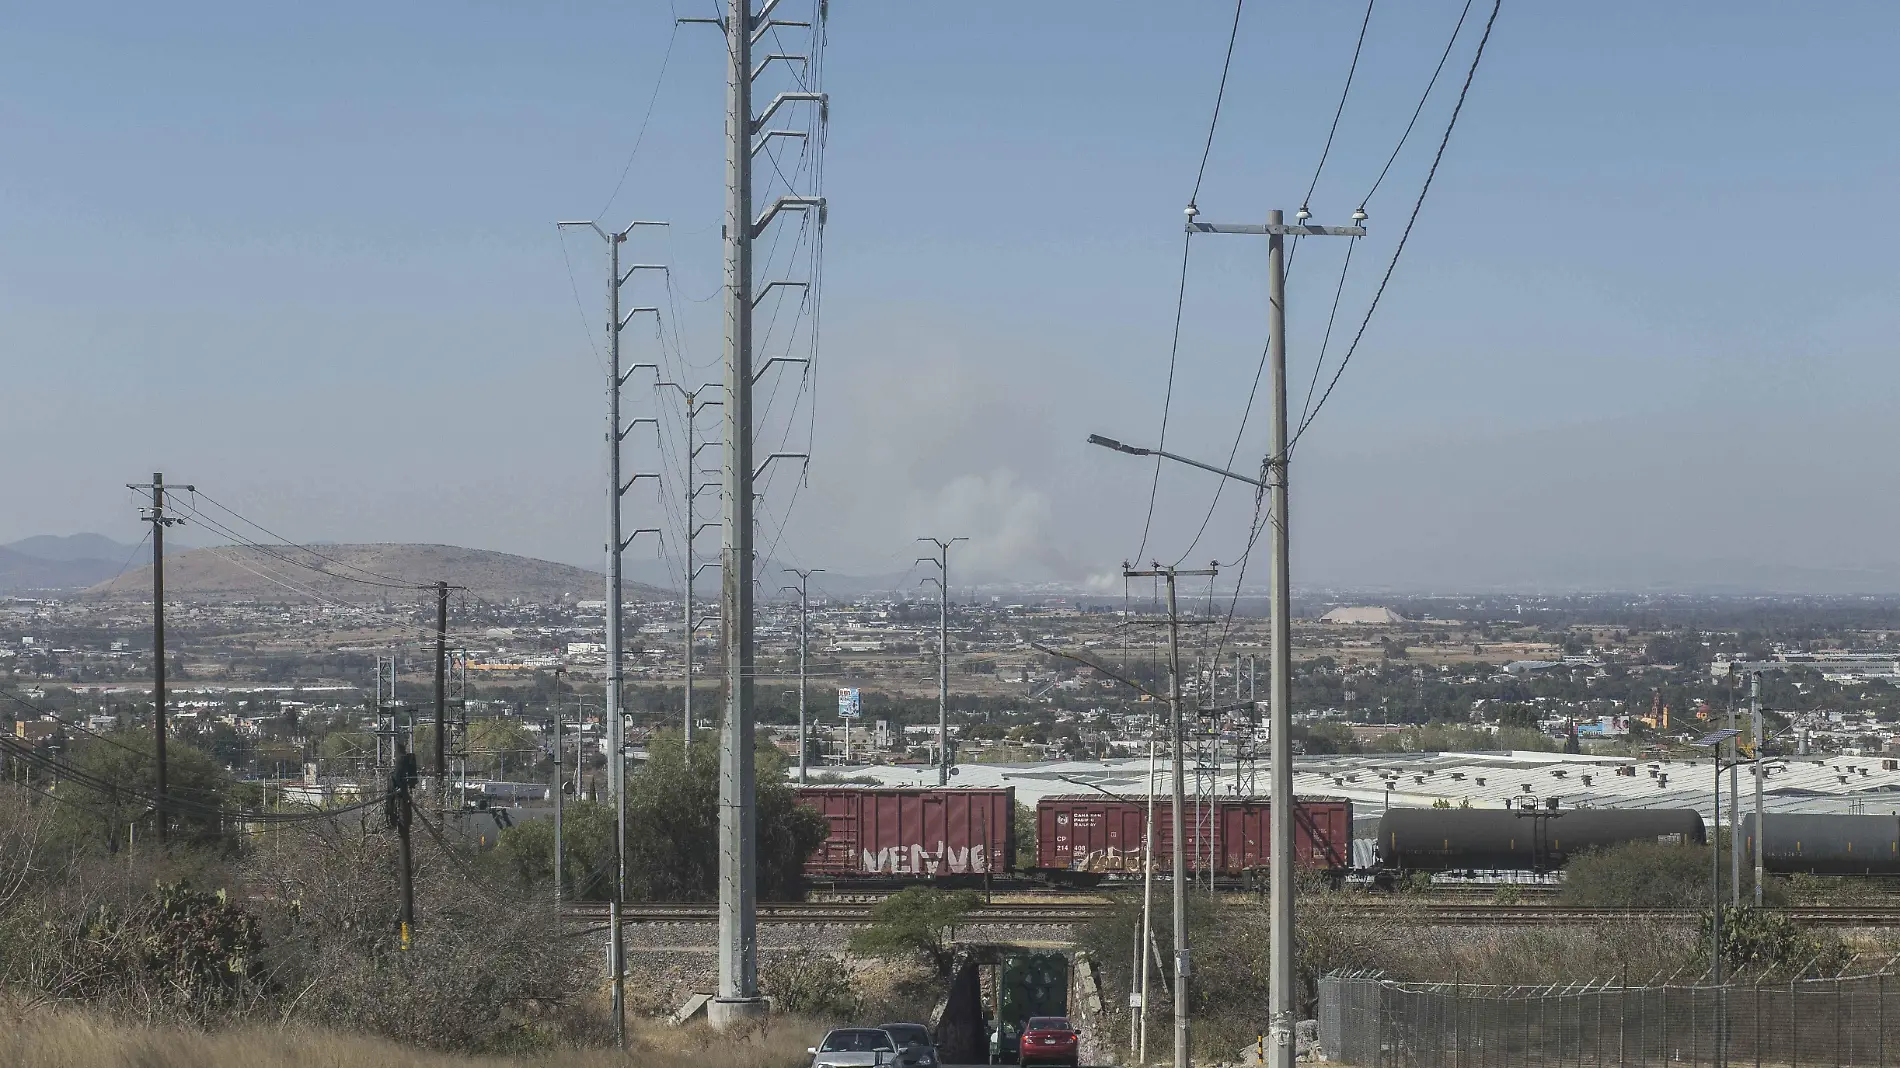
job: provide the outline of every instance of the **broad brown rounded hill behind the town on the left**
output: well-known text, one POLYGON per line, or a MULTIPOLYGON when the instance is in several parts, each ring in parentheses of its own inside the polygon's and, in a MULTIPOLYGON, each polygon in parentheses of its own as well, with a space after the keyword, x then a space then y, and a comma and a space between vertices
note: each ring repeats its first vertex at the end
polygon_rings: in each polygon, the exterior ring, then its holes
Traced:
MULTIPOLYGON (((116 572, 116 564, 114 564, 116 572)), ((458 545, 217 545, 165 553, 165 595, 179 601, 344 601, 374 602, 414 597, 405 585, 446 580, 484 601, 598 601, 600 572, 490 553, 458 545), (393 582, 391 582, 393 580, 393 582)), ((667 591, 627 583, 627 597, 667 597, 667 591)), ((150 599, 152 568, 127 570, 86 591, 93 599, 150 599)))

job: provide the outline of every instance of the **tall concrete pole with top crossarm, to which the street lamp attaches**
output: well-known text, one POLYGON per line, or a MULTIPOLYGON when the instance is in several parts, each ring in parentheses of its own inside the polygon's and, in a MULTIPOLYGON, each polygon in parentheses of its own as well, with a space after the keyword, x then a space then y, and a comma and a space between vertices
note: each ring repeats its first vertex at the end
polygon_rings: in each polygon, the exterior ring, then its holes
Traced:
MULTIPOLYGON (((1307 226, 1311 213, 1300 207, 1298 224, 1288 226, 1282 211, 1269 211, 1262 224, 1195 222, 1199 209, 1188 205, 1189 234, 1265 234, 1267 238, 1267 359, 1273 363, 1273 443, 1267 454, 1265 481, 1269 502, 1271 547, 1271 639, 1267 671, 1267 745, 1271 764, 1269 796, 1269 927, 1271 960, 1267 965, 1267 1066, 1294 1066, 1294 747, 1292 747, 1292 595, 1288 564, 1286 513, 1288 431, 1286 431, 1286 236, 1300 238, 1364 238, 1364 226, 1307 226)), ((1366 211, 1353 213, 1353 222, 1364 222, 1366 211)))

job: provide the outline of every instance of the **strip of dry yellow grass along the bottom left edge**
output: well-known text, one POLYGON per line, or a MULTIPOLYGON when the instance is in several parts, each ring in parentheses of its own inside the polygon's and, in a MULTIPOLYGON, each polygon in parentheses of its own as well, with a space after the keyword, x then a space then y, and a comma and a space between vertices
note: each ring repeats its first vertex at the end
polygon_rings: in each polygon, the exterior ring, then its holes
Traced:
POLYGON ((0 1011, 0 1064, 11 1068, 792 1068, 825 1024, 773 1019, 747 1034, 635 1022, 629 1049, 456 1057, 317 1030, 188 1032, 74 1011, 0 1011))

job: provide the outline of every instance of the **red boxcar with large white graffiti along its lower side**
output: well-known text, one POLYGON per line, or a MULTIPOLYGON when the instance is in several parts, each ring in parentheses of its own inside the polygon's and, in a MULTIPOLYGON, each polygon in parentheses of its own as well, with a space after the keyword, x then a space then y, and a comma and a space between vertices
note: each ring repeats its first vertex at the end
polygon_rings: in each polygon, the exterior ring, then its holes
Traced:
POLYGON ((828 823, 808 876, 965 876, 1011 872, 1016 791, 969 787, 798 787, 828 823))

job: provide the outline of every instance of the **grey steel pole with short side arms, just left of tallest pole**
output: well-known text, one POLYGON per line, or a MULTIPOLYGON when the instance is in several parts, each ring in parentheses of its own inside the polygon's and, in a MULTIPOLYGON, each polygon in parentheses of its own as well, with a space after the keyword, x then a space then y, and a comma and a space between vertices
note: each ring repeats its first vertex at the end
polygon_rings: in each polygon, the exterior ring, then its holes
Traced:
POLYGON ((625 315, 619 310, 619 289, 627 285, 627 279, 635 272, 642 270, 667 270, 661 264, 631 264, 625 272, 619 268, 619 247, 627 241, 636 226, 665 226, 665 222, 635 220, 629 222, 625 230, 606 232, 597 222, 557 222, 557 226, 587 226, 598 234, 608 245, 608 274, 606 274, 606 350, 608 350, 608 374, 606 374, 606 467, 608 467, 608 488, 606 488, 606 781, 608 792, 614 796, 614 897, 608 903, 608 971, 612 971, 614 982, 614 1039, 625 1049, 627 1045, 627 990, 625 990, 625 954, 621 943, 621 903, 625 899, 627 887, 627 720, 619 707, 625 690, 625 650, 621 639, 621 625, 625 621, 623 597, 623 578, 621 578, 621 553, 633 544, 640 534, 659 534, 657 528, 635 530, 633 534, 621 536, 621 498, 633 488, 640 479, 657 479, 657 473, 636 473, 625 481, 619 475, 619 447, 621 441, 633 433, 635 426, 652 424, 659 428, 659 420, 636 418, 633 422, 621 422, 619 418, 619 391, 627 384, 627 378, 644 369, 659 371, 654 363, 635 363, 625 372, 619 369, 619 334, 627 323, 642 314, 652 312, 659 317, 659 308, 631 308, 625 315))

